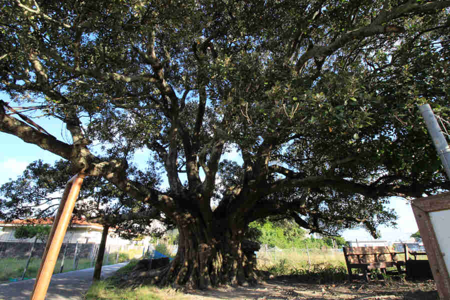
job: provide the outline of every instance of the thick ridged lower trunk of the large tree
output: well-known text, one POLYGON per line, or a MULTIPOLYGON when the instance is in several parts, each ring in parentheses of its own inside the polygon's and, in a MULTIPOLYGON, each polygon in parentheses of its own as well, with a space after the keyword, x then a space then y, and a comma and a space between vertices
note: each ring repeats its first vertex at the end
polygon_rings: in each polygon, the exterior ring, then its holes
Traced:
POLYGON ((256 283, 254 251, 259 244, 244 240, 243 229, 231 228, 226 225, 228 220, 205 224, 190 214, 182 219, 177 223, 178 252, 161 276, 162 284, 207 288, 220 283, 256 283))

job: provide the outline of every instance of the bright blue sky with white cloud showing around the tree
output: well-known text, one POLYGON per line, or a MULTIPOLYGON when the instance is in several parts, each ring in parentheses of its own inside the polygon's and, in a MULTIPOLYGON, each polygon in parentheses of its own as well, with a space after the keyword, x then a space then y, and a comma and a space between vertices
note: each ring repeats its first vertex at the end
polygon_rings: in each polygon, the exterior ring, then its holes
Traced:
MULTIPOLYGON (((0 96, 0 98, 8 101, 4 95, 0 96)), ((70 142, 66 136, 64 137, 63 133, 65 132, 65 128, 60 121, 49 118, 38 118, 35 119, 35 122, 58 139, 70 142)), ((0 185, 7 182, 9 178, 15 179, 34 160, 41 159, 44 162, 53 163, 55 160, 60 159, 59 156, 49 151, 43 150, 36 145, 25 143, 20 138, 3 132, 0 132, 0 149, 0 185)), ((136 153, 135 158, 138 160, 136 162, 145 165, 147 156, 143 154, 136 153)), ((232 159, 233 153, 228 155, 231 157, 227 158, 232 159)), ((237 155, 237 153, 234 155, 237 155)), ((397 228, 380 226, 378 229, 381 233, 381 239, 388 241, 410 239, 409 236, 418 230, 411 206, 402 198, 392 197, 388 207, 395 209, 397 212, 398 226, 397 228)), ((364 229, 345 230, 342 236, 346 240, 355 240, 356 238, 360 241, 373 239, 364 229)))

